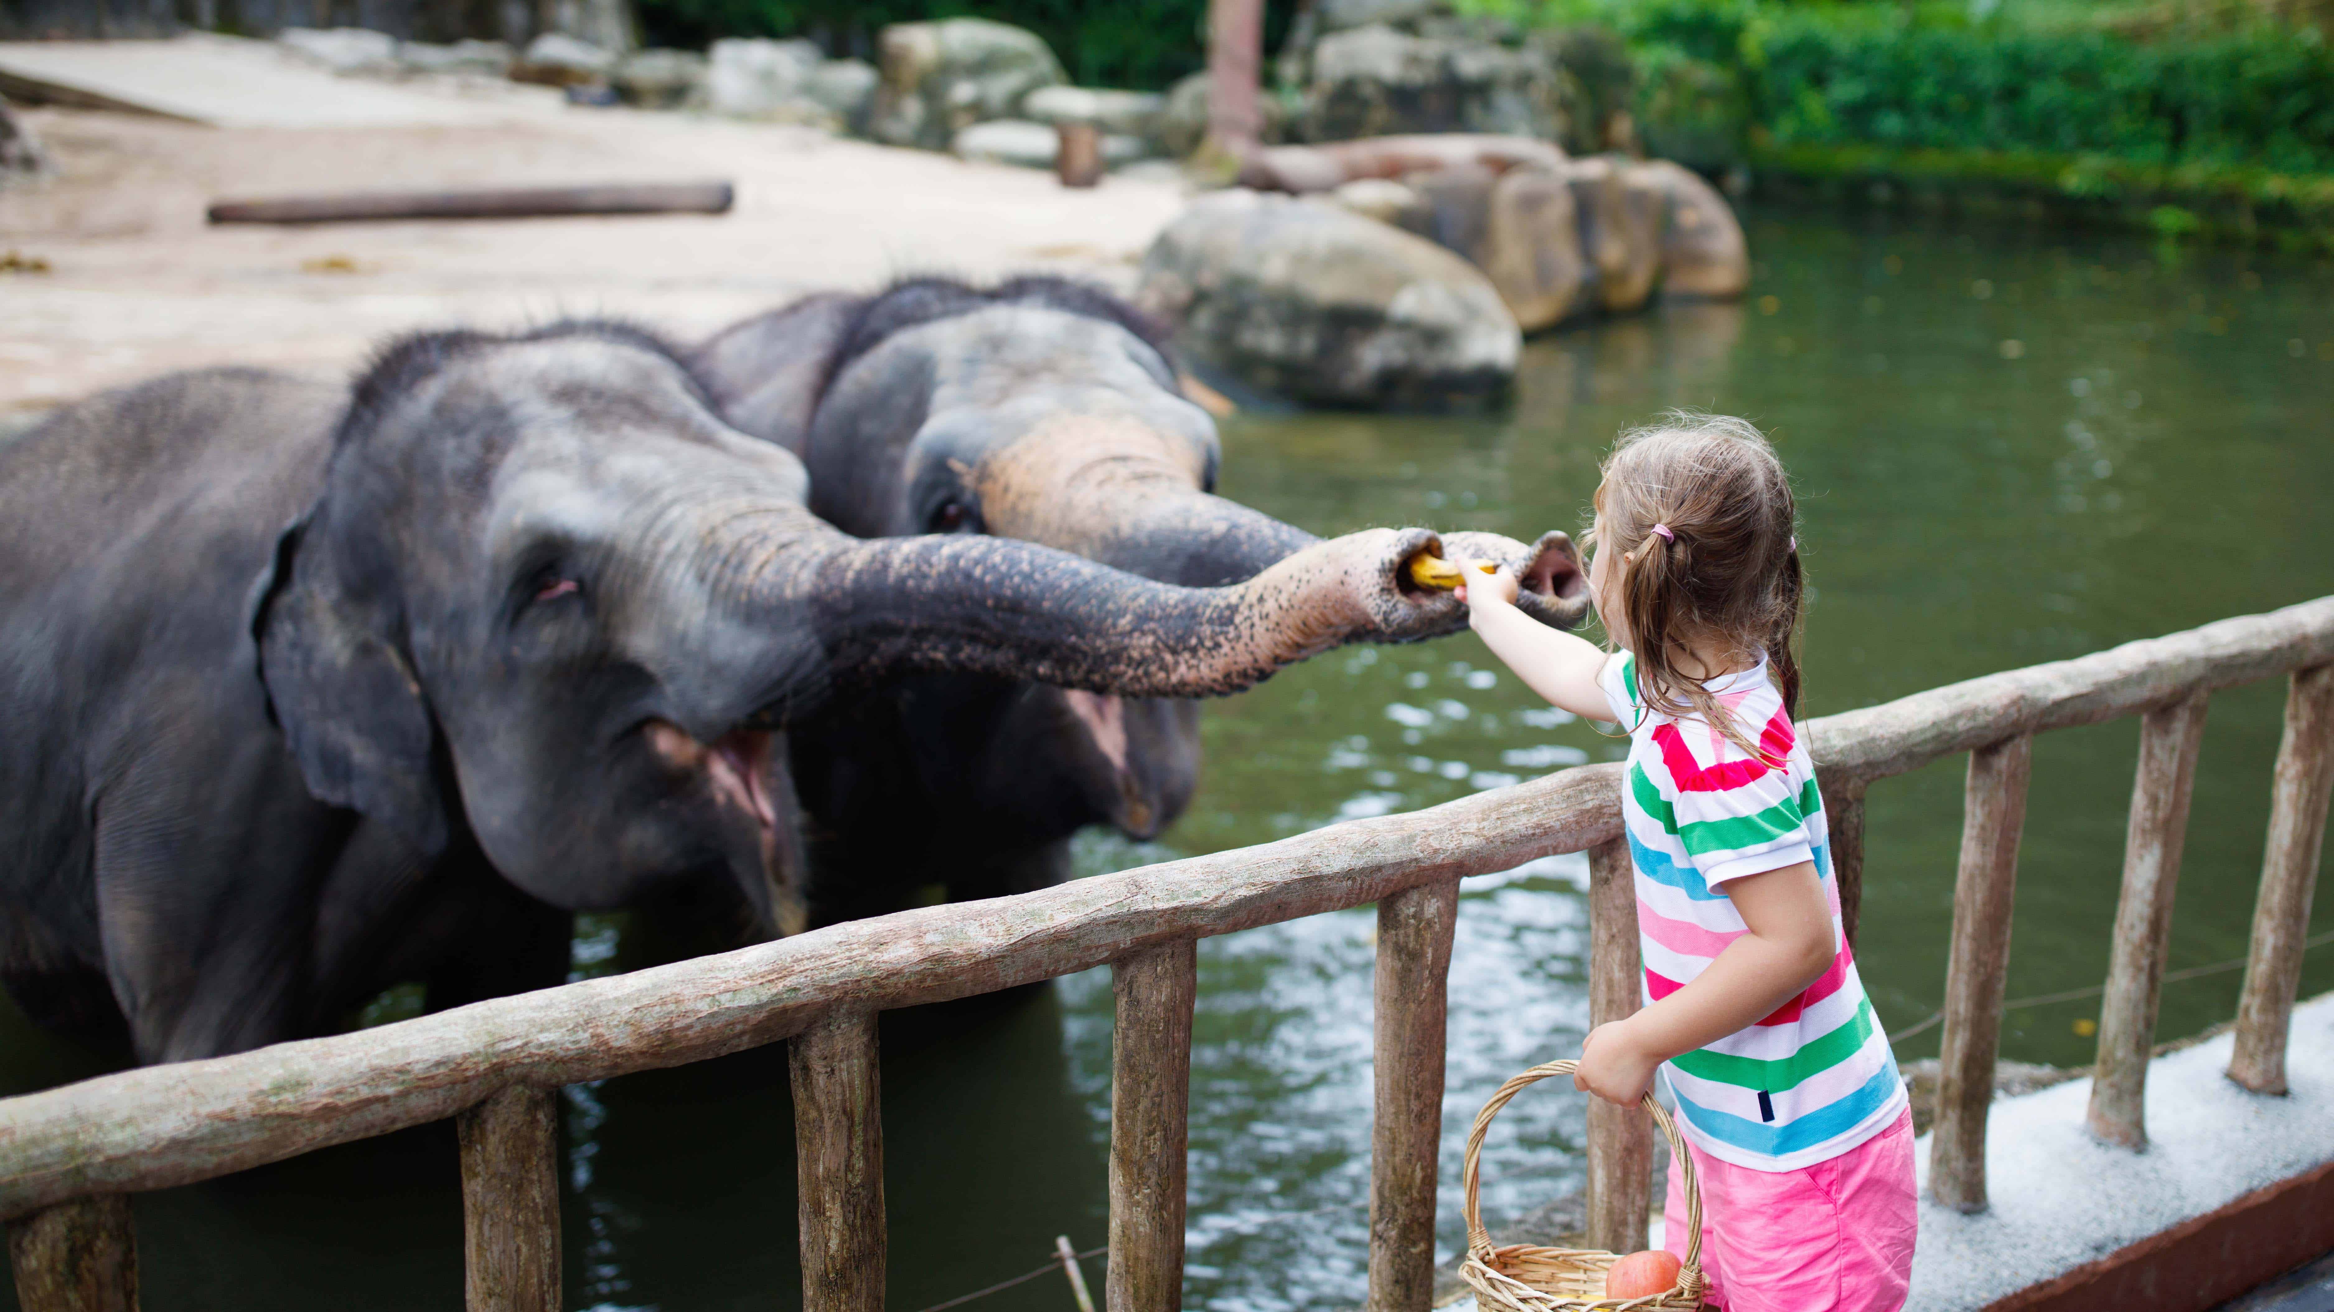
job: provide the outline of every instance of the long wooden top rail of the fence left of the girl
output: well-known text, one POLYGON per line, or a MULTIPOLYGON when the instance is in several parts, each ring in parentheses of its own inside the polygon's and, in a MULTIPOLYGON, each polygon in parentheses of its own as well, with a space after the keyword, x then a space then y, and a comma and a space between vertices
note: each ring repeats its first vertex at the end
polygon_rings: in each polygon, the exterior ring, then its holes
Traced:
POLYGON ((558 1088, 719 1058, 787 1039, 836 1006, 997 992, 1132 948, 1510 871, 1615 833, 1620 766, 1580 766, 1260 847, 854 920, 378 1030, 9 1097, 0 1100, 0 1219, 441 1121, 513 1081, 558 1088))

